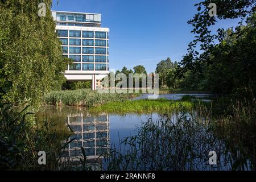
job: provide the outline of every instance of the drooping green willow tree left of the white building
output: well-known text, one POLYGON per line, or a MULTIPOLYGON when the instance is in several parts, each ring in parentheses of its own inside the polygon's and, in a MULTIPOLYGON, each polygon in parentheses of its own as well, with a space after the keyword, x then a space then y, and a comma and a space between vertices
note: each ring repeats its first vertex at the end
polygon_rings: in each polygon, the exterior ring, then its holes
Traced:
POLYGON ((5 98, 16 104, 38 105, 45 93, 61 88, 66 63, 46 0, 46 16, 38 16, 41 1, 0 2, 0 65, 13 87, 5 98))

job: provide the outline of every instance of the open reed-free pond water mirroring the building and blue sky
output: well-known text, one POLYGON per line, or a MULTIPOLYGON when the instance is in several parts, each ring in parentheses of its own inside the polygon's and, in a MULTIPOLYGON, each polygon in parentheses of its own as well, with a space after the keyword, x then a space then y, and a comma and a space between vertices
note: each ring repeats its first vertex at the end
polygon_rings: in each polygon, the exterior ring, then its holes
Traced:
MULTIPOLYGON (((159 98, 167 98, 168 100, 180 100, 183 96, 188 94, 163 94, 159 98)), ((200 99, 204 101, 210 101, 212 97, 209 94, 189 94, 193 99, 200 99)), ((136 99, 142 99, 147 97, 147 94, 137 97, 136 99)), ((160 113, 152 114, 108 114, 98 113, 92 115, 88 110, 81 109, 79 107, 56 107, 47 106, 39 111, 38 118, 47 118, 56 124, 56 129, 61 134, 68 136, 72 135, 68 140, 74 139, 69 143, 65 155, 71 156, 73 166, 81 166, 80 158, 82 158, 81 147, 84 148, 86 157, 93 169, 101 169, 104 166, 103 154, 109 154, 110 148, 119 148, 119 143, 122 139, 137 135, 138 126, 141 126, 143 122, 152 120, 157 121, 159 118, 163 118, 164 115, 160 113), (71 127, 72 131, 69 129, 71 127)), ((168 118, 171 118, 172 122, 177 119, 176 113, 168 113, 168 118)), ((219 140, 218 140, 219 141, 219 140)), ((222 143, 222 140, 221 140, 222 143)), ((120 147, 121 150, 125 148, 120 147)), ((225 149, 225 146, 224 146, 225 149)), ((208 154, 205 157, 208 158, 208 154)), ((204 157, 204 160, 205 160, 204 157)), ((223 165, 219 169, 230 169, 230 164, 225 166, 226 156, 221 155, 223 165)), ((249 163, 249 161, 246 161, 249 163)), ((203 164, 205 165, 205 164, 203 164)), ((206 164, 209 166, 208 164, 206 164)), ((200 167, 199 169, 205 169, 200 167)), ((209 168, 208 168, 209 169, 209 168)))

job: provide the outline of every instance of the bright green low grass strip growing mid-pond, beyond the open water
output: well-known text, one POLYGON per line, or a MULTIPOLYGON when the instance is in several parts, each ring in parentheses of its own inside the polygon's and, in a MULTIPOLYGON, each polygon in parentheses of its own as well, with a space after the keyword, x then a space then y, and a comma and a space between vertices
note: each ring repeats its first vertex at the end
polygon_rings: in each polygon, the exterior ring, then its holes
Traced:
POLYGON ((166 99, 158 99, 158 100, 126 100, 126 101, 117 101, 117 102, 109 102, 108 104, 104 104, 101 106, 93 107, 90 109, 91 112, 101 113, 115 113, 115 114, 123 114, 123 113, 152 113, 159 112, 164 113, 167 110, 174 109, 186 109, 191 110, 193 106, 193 102, 190 101, 170 101, 166 99))

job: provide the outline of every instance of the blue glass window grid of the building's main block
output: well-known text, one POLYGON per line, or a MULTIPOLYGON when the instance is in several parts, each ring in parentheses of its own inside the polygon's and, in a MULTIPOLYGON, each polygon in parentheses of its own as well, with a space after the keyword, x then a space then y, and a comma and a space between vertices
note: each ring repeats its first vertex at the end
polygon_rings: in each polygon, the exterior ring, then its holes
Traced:
MULTIPOLYGON (((72 15, 69 15, 72 16, 72 15)), ((66 16, 66 19, 72 17, 66 16)), ((76 19, 73 16, 73 19, 76 19)), ((69 71, 108 71, 108 36, 107 32, 57 30, 63 46, 64 56, 73 60, 69 71)))

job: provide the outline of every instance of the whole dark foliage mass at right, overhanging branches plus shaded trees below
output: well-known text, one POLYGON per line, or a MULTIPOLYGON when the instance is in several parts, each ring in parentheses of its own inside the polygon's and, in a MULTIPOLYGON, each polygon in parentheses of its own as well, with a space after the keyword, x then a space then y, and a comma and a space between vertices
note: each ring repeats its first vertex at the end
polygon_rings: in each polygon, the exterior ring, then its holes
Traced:
POLYGON ((195 89, 255 96, 255 1, 204 0, 195 6, 199 13, 188 21, 195 39, 189 43, 176 75, 185 77, 184 85, 191 82, 195 89), (217 5, 217 17, 208 15, 212 2, 217 5), (241 18, 234 31, 210 30, 217 19, 227 18, 241 18), (246 18, 247 24, 242 26, 246 18), (201 53, 196 51, 199 47, 201 53))

